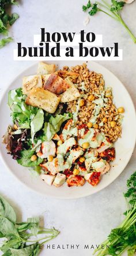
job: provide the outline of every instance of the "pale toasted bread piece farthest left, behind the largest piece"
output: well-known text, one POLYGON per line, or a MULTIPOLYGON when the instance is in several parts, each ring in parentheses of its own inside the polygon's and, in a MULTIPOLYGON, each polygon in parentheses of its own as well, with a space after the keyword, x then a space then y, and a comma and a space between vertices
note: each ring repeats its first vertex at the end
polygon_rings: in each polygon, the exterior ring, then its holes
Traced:
POLYGON ((22 93, 28 94, 32 88, 42 88, 43 81, 40 75, 24 76, 22 79, 22 93))

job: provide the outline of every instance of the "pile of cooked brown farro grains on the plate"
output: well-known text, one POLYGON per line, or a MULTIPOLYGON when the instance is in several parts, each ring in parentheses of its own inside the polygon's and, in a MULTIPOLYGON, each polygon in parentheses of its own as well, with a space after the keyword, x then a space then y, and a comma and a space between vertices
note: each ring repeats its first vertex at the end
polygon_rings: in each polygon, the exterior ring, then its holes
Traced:
MULTIPOLYGON (((71 77, 71 81, 73 81, 74 84, 77 84, 82 99, 84 99, 84 105, 80 106, 78 112, 77 124, 87 124, 95 116, 96 103, 89 101, 88 97, 93 95, 95 99, 99 99, 101 94, 103 94, 105 99, 107 99, 107 104, 104 107, 101 107, 95 124, 98 125, 100 132, 104 132, 107 138, 112 142, 115 142, 122 134, 122 115, 118 113, 118 109, 113 102, 111 89, 105 88, 103 75, 94 71, 89 71, 85 63, 71 68, 64 66, 63 71, 71 71, 78 74, 77 78, 74 77, 74 79, 72 79, 71 77), (107 118, 106 123, 103 122, 104 117, 107 118), (116 121, 115 127, 111 127, 111 121, 116 121)), ((78 100, 67 103, 67 112, 75 112, 77 104, 78 100)))

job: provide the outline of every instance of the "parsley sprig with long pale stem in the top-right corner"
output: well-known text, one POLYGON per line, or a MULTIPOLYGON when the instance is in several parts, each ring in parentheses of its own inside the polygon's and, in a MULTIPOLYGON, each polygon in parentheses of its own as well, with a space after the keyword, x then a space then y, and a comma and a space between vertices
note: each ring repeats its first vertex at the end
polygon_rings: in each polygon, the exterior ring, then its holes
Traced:
POLYGON ((106 0, 101 0, 101 2, 96 1, 95 3, 91 3, 89 0, 87 5, 82 6, 82 10, 84 12, 88 11, 90 16, 95 15, 97 12, 103 12, 107 14, 109 17, 114 18, 114 20, 118 21, 120 24, 124 26, 124 28, 126 28, 126 31, 129 33, 131 39, 133 40, 134 43, 136 43, 136 37, 133 35, 129 27, 127 27, 126 23, 124 23, 124 20, 122 19, 121 12, 124 4, 124 1, 116 0, 111 0, 110 5, 109 2, 106 0))

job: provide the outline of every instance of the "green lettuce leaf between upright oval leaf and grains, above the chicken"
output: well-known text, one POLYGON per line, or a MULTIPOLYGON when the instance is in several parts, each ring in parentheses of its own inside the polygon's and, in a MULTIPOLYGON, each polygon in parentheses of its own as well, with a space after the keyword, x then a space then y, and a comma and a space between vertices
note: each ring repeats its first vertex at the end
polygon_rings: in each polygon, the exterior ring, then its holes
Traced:
POLYGON ((55 117, 51 116, 49 122, 44 123, 44 140, 51 140, 55 133, 60 130, 62 123, 70 118, 69 114, 56 114, 55 117))

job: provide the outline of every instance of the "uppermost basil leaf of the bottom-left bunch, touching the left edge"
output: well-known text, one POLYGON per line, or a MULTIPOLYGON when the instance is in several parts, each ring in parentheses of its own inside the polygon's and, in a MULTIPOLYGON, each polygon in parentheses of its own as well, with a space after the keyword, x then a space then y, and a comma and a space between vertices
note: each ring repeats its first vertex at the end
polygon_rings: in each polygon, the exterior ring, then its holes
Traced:
POLYGON ((0 216, 7 218, 14 223, 16 222, 16 213, 12 206, 10 206, 2 196, 0 196, 0 216))

